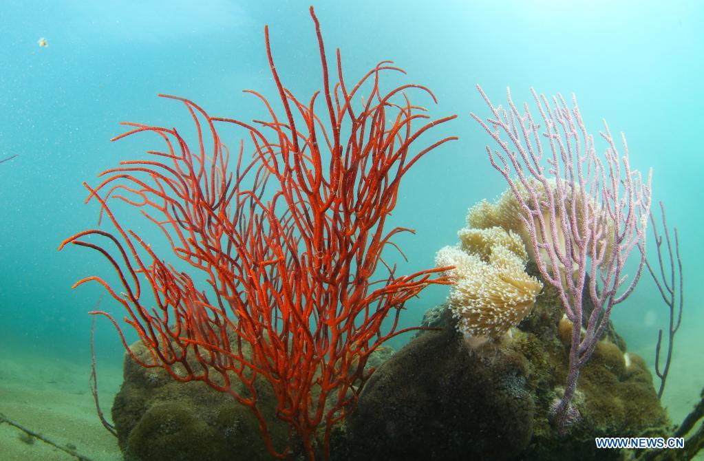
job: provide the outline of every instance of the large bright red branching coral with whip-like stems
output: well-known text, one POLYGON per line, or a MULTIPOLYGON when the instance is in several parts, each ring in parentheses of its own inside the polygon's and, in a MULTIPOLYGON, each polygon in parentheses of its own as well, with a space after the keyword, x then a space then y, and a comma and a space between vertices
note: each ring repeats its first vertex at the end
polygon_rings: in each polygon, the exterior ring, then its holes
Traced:
MULTIPOLYGON (((137 357, 127 348, 132 359, 161 367, 178 381, 203 381, 230 393, 256 415, 271 455, 286 457, 291 446, 273 446, 258 406, 258 393, 268 385, 275 394, 275 414, 290 425, 312 460, 321 424, 329 456, 332 425, 346 416, 370 376, 365 371, 370 354, 406 331, 397 329, 406 300, 428 284, 450 283, 441 275, 448 267, 398 275, 382 251, 394 250, 391 238, 410 231, 386 229, 403 175, 455 138, 424 149, 416 149, 415 141, 455 116, 417 126, 429 117, 406 93, 432 93, 415 84, 382 91, 382 74, 403 72, 389 61, 350 85, 338 51, 329 75, 313 8, 310 15, 322 64, 322 89, 310 102, 297 99, 279 79, 265 29, 284 113, 254 91, 249 93, 263 103, 268 121, 210 117, 187 99, 162 95, 189 111, 198 134, 195 149, 175 129, 126 123, 132 129, 115 139, 150 132, 165 143, 165 151, 150 151, 149 159, 103 172, 106 179, 98 187, 86 184, 88 200, 99 201, 117 232, 90 229, 61 247, 93 248, 114 267, 120 289, 101 277, 87 277, 76 286, 99 282, 124 306, 125 321, 148 351, 137 357), (322 108, 315 110, 316 103, 322 108), (220 141, 217 125, 222 123, 246 131, 251 157, 242 141, 232 161, 220 141), (189 272, 177 270, 136 232, 122 227, 108 198, 142 210, 189 272), (84 241, 88 236, 106 244, 84 241), (207 289, 196 287, 203 276, 207 289), (155 308, 145 305, 150 298, 155 308), (382 322, 389 316, 386 330, 382 322), (246 392, 235 390, 235 379, 246 392)), ((92 313, 113 320, 106 312, 92 313)))

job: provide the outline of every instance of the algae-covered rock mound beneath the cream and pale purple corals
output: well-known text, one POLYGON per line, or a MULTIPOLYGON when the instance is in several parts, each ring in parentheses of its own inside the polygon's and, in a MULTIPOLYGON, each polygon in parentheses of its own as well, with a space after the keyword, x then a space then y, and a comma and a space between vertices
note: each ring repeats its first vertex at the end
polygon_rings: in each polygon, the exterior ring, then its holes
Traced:
POLYGON ((428 326, 439 331, 408 343, 367 383, 348 420, 351 459, 620 459, 596 450, 594 437, 665 436, 670 422, 650 372, 612 330, 582 368, 570 435, 553 427, 570 351, 561 317, 547 286, 513 340, 482 355, 468 353, 447 306, 434 308, 428 326))

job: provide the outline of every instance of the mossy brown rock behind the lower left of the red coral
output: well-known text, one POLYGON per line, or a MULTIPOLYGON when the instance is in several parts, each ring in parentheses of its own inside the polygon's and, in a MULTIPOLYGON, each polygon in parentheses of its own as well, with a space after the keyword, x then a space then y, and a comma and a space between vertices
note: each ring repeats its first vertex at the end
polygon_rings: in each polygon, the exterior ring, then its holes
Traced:
MULTIPOLYGON (((142 343, 130 346, 147 360, 142 343)), ((269 460, 258 421, 232 396, 202 382, 181 383, 160 368, 144 368, 125 355, 124 381, 113 403, 113 422, 127 461, 269 460)), ((265 388, 260 405, 272 415, 265 388)), ((285 446, 288 427, 268 425, 275 446, 285 446)))

